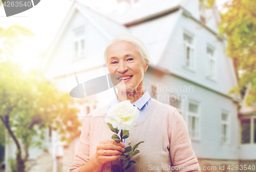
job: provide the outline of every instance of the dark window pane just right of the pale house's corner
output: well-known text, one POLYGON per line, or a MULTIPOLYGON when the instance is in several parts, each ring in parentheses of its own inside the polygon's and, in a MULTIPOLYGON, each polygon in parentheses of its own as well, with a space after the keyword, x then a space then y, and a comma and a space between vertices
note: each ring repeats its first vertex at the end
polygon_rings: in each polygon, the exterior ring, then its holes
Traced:
POLYGON ((241 119, 241 143, 250 143, 250 119, 241 119))

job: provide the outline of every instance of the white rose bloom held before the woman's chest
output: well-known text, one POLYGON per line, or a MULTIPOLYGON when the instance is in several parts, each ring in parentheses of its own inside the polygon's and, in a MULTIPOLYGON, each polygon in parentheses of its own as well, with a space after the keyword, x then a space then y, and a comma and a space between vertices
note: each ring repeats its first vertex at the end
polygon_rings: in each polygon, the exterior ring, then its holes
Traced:
POLYGON ((111 123, 118 130, 131 130, 136 124, 140 111, 134 106, 130 100, 121 101, 114 104, 108 112, 106 112, 105 121, 111 123))

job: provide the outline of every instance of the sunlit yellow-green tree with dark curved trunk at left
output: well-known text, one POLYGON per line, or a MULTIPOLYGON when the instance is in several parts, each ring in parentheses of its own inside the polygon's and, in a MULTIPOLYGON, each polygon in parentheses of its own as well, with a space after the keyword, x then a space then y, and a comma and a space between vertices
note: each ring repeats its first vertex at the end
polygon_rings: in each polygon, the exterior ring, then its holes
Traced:
MULTIPOLYGON (((0 28, 0 120, 17 147, 17 171, 24 172, 29 157, 29 147, 37 146, 44 139, 47 127, 58 131, 61 140, 71 141, 81 125, 74 99, 59 92, 44 75, 31 70, 27 73, 11 60, 17 41, 32 33, 18 25, 0 28)), ((1 133, 0 133, 1 134, 1 133)))

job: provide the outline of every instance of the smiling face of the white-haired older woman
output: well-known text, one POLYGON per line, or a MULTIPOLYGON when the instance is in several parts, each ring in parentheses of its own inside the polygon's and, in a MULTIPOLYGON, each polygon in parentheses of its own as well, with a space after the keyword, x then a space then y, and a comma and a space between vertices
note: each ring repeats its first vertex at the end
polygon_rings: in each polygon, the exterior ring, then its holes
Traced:
POLYGON ((131 42, 120 41, 110 46, 106 65, 110 74, 116 75, 115 79, 120 82, 116 88, 123 92, 132 92, 138 86, 143 85, 143 76, 147 70, 141 54, 131 42))

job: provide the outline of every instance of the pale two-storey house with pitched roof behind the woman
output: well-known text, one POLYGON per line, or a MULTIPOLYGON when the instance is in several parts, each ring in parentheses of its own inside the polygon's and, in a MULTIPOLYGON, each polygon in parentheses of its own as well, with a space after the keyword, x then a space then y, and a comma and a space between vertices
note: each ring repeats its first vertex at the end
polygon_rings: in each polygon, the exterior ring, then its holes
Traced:
MULTIPOLYGON (((119 33, 138 36, 152 57, 145 90, 183 116, 201 168, 214 171, 224 165, 226 171, 228 165, 239 164, 240 124, 238 101, 227 95, 237 79, 219 22, 217 9, 204 9, 198 0, 119 1, 117 10, 105 14, 74 1, 43 65, 46 75, 70 92, 108 72, 101 61, 109 40, 119 33)), ((114 95, 113 89, 107 92, 114 95)), ((79 117, 112 100, 105 93, 99 96, 79 106, 79 117)), ((47 147, 53 171, 68 171, 79 138, 68 145, 53 134, 55 141, 47 147)))

